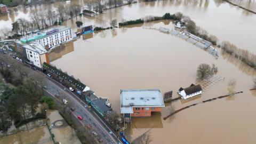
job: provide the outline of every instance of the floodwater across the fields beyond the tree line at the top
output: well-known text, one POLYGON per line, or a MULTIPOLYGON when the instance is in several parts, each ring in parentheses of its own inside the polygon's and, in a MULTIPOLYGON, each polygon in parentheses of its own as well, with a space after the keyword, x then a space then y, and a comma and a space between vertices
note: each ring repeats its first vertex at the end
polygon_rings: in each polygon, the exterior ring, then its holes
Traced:
MULTIPOLYGON (((249 7, 256 11, 256 2, 237 1, 232 2, 249 7)), ((83 0, 74 0, 70 3, 85 4, 83 0)), ((63 2, 62 4, 70 4, 63 2)), ((56 4, 37 6, 41 11, 49 7, 55 9, 56 4)), ((35 9, 32 7, 31 9, 35 9)), ((18 18, 29 18, 30 8, 18 9, 9 15, 0 17, 0 28, 11 27, 11 23, 18 18)), ((256 15, 221 0, 183 0, 183 1, 158 1, 141 2, 132 5, 121 6, 116 9, 105 11, 106 14, 92 17, 78 17, 65 21, 64 25, 72 27, 76 31, 75 22, 83 21, 84 25, 108 26, 109 22, 117 19, 118 22, 145 17, 147 15, 163 15, 166 12, 182 12, 193 19, 199 27, 205 29, 209 34, 217 36, 221 41, 230 41, 241 49, 256 53, 254 34, 256 33, 256 15)))

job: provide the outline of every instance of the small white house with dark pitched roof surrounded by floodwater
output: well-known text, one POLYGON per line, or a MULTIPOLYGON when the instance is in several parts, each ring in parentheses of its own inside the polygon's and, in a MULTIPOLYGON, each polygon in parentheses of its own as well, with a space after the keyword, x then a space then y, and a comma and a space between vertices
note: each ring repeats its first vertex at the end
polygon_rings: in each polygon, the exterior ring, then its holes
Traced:
POLYGON ((202 87, 201 85, 194 85, 191 84, 189 87, 183 89, 180 87, 178 93, 181 95, 182 99, 188 99, 194 97, 195 95, 202 94, 202 87))

